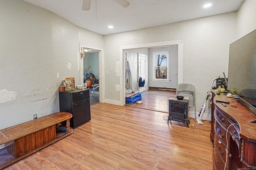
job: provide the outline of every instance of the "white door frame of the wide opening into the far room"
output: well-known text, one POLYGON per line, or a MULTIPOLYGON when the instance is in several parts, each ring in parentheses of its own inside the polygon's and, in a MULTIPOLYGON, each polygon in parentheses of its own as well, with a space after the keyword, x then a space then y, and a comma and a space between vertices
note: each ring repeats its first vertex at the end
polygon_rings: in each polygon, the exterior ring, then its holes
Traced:
POLYGON ((130 49, 145 49, 153 47, 166 47, 178 45, 178 84, 183 81, 182 65, 183 65, 183 40, 174 40, 174 41, 164 41, 164 42, 155 42, 147 44, 138 44, 138 45, 126 45, 120 46, 120 61, 122 61, 122 75, 120 76, 120 105, 124 106, 126 104, 125 100, 125 57, 124 51, 130 49))

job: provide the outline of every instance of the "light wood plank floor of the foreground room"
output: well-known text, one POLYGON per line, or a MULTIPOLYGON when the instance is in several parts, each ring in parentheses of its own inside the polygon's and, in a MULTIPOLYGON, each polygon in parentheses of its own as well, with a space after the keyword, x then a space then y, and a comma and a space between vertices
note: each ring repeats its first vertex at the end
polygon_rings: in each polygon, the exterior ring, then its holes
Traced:
POLYGON ((93 105, 91 121, 6 170, 212 170, 210 121, 192 129, 167 123, 165 116, 130 106, 93 105))

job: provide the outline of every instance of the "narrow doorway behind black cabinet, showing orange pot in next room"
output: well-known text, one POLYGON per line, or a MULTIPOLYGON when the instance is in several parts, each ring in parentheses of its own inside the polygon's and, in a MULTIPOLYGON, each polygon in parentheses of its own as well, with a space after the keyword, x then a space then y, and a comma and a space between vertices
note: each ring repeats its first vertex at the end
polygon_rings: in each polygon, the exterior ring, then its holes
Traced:
POLYGON ((104 103, 104 50, 80 44, 80 84, 90 91, 90 105, 104 103))

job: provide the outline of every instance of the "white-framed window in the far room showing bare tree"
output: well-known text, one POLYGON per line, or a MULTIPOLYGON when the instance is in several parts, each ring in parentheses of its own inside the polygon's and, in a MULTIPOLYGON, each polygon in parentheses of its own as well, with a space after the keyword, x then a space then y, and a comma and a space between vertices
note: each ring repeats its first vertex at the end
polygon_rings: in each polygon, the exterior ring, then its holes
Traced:
POLYGON ((153 52, 153 80, 169 81, 170 51, 153 52))

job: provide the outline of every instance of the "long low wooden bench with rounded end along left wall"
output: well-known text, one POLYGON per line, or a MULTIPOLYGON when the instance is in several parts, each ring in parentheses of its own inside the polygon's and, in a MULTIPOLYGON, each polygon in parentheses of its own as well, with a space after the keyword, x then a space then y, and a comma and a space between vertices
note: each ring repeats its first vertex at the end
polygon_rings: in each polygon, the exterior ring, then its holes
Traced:
POLYGON ((57 112, 0 130, 0 146, 4 146, 0 149, 0 169, 71 135, 71 117, 71 113, 57 112), (64 130, 57 133, 56 127, 61 122, 66 124, 66 131, 62 127, 64 130))

